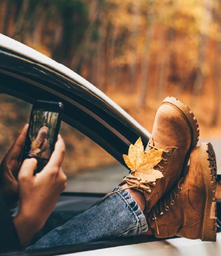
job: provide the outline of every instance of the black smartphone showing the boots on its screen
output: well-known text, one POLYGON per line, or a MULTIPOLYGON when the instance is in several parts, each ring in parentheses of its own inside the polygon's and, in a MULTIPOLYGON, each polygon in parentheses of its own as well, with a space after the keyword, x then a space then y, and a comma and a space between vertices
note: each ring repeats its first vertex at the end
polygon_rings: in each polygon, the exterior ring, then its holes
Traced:
POLYGON ((44 168, 53 153, 63 109, 61 102, 37 100, 33 105, 22 160, 37 159, 35 174, 44 168))

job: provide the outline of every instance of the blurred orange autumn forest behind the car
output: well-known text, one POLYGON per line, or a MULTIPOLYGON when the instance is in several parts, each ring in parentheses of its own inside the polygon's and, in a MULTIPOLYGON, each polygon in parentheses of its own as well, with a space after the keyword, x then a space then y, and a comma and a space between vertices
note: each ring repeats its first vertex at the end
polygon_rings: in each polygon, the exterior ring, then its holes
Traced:
MULTIPOLYGON (((71 68, 150 132, 170 95, 192 108, 201 138, 221 140, 221 0, 0 0, 0 33, 71 68)), ((72 172, 114 161, 62 131, 72 172)))

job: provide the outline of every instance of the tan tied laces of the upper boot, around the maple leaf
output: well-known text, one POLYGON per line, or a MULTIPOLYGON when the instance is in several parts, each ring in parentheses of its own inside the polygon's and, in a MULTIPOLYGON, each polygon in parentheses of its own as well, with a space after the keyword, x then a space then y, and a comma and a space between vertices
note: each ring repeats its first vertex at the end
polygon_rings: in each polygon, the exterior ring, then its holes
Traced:
MULTIPOLYGON (((160 149, 160 148, 157 148, 153 145, 151 145, 150 143, 148 144, 148 146, 150 148, 153 148, 153 149, 160 149)), ((145 150, 144 153, 146 153, 147 151, 145 150)), ((166 154, 170 154, 171 151, 166 151, 166 150, 163 150, 164 153, 166 154)), ((164 163, 167 163, 168 162, 168 159, 166 158, 162 158, 164 163)), ((155 169, 157 169, 157 167, 160 169, 160 171, 163 171, 164 170, 164 167, 161 166, 160 164, 157 164, 156 166, 154 166, 155 169)), ((138 177, 134 176, 133 174, 135 173, 135 171, 131 171, 129 175, 125 176, 123 178, 123 181, 120 183, 120 185, 122 185, 123 183, 127 183, 127 187, 126 188, 121 188, 119 190, 116 190, 116 191, 113 191, 111 193, 108 193, 106 196, 103 197, 102 201, 104 201, 107 197, 115 194, 115 193, 118 193, 118 192, 121 192, 121 191, 124 191, 124 190, 127 190, 129 188, 135 188, 135 189, 143 189, 143 191, 147 192, 147 193, 151 193, 151 188, 150 186, 152 187, 155 187, 156 186, 156 182, 150 182, 150 181, 139 181, 138 180, 138 177)))

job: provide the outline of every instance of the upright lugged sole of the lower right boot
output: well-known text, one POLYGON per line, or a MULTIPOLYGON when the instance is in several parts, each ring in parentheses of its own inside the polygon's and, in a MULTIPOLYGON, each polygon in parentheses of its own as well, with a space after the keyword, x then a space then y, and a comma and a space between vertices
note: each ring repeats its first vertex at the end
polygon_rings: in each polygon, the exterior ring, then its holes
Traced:
POLYGON ((215 242, 217 237, 217 205, 215 202, 217 163, 211 143, 201 143, 200 160, 206 193, 201 226, 201 240, 215 242))

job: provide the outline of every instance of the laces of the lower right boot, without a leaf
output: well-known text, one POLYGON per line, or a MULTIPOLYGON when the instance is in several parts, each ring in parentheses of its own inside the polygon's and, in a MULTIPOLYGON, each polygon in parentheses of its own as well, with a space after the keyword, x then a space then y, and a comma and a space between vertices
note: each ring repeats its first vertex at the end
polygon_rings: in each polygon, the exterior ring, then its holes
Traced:
POLYGON ((164 214, 164 211, 169 211, 170 206, 169 205, 174 205, 175 201, 179 197, 179 192, 181 192, 182 187, 180 186, 181 181, 183 180, 180 179, 178 182, 176 188, 174 188, 170 193, 168 193, 164 198, 162 198, 160 201, 156 203, 156 205, 153 206, 153 208, 150 211, 150 220, 155 222, 156 225, 156 231, 157 235, 160 235, 159 232, 159 227, 157 224, 157 216, 162 216, 164 214))

